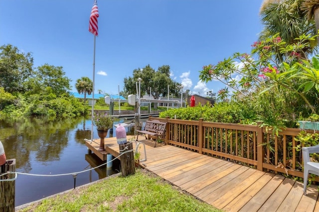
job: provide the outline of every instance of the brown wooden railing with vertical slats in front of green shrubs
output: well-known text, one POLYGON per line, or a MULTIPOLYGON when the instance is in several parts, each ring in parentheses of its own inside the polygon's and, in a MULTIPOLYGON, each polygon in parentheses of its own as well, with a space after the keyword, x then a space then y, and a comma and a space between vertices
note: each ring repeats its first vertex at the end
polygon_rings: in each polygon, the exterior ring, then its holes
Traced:
POLYGON ((255 167, 260 171, 303 177, 302 155, 301 151, 296 150, 299 143, 295 139, 300 129, 287 128, 277 136, 257 125, 151 116, 149 119, 167 122, 166 144, 255 167))

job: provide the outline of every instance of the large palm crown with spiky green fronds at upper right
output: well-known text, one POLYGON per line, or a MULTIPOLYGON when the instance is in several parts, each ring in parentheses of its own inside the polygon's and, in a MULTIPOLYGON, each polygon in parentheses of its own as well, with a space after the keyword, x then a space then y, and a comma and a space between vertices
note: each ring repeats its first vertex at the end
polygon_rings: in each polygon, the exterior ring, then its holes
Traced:
MULTIPOLYGON (((303 4, 304 0, 264 0, 260 8, 260 16, 265 27, 259 40, 265 40, 280 33, 280 37, 287 42, 287 45, 290 45, 298 42, 295 38, 303 34, 316 35, 314 21, 306 17, 302 10, 303 4)), ((312 48, 305 48, 299 52, 301 58, 307 58, 309 54, 313 53, 316 43, 312 43, 311 46, 312 48)), ((281 61, 282 55, 278 52, 276 59, 281 61)))

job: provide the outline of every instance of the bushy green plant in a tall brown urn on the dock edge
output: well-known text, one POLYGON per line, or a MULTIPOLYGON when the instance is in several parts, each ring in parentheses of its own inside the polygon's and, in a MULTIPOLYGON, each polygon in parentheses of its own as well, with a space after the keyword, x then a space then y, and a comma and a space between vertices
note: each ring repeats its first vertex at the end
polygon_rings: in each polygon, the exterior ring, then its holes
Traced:
POLYGON ((95 113, 92 117, 93 124, 98 130, 98 136, 100 137, 99 151, 105 151, 104 138, 108 134, 108 130, 113 127, 113 117, 107 113, 95 113))

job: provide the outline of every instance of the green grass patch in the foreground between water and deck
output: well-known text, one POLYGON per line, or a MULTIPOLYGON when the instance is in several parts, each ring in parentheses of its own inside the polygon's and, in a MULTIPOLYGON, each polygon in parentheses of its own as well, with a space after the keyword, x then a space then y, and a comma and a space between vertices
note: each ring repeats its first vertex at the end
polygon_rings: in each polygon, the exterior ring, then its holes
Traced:
POLYGON ((160 177, 137 169, 47 198, 18 212, 221 212, 160 177))

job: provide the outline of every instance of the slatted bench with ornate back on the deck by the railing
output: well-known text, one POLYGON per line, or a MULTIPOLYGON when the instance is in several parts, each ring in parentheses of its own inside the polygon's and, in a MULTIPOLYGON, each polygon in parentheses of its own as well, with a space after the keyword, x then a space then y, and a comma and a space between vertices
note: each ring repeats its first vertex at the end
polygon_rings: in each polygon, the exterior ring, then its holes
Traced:
POLYGON ((165 138, 165 129, 166 122, 161 122, 159 120, 147 120, 145 123, 144 130, 136 130, 138 132, 138 136, 136 140, 138 140, 140 134, 144 134, 146 139, 155 138, 155 145, 158 143, 160 139, 164 140, 165 138), (148 137, 146 135, 149 135, 148 137))

